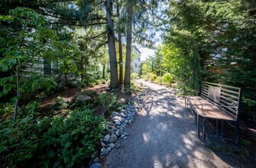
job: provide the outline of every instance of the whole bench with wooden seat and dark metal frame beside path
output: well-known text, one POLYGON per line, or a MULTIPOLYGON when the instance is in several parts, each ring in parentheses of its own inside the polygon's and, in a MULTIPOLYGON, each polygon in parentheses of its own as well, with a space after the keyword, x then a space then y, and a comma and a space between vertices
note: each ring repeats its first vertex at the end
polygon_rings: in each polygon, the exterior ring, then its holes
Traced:
POLYGON ((200 137, 200 118, 203 118, 203 139, 206 139, 205 123, 207 119, 216 121, 216 136, 219 121, 235 123, 235 143, 238 143, 238 116, 241 111, 241 88, 225 86, 219 83, 202 82, 201 96, 186 96, 185 105, 190 105, 196 117, 197 134, 200 137))

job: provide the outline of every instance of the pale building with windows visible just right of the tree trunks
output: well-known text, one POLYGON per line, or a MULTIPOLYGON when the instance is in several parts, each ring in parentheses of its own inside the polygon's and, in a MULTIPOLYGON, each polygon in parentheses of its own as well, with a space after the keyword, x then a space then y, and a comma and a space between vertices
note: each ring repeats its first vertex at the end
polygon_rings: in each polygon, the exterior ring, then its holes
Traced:
POLYGON ((131 47, 131 73, 141 73, 141 52, 137 47, 131 47))

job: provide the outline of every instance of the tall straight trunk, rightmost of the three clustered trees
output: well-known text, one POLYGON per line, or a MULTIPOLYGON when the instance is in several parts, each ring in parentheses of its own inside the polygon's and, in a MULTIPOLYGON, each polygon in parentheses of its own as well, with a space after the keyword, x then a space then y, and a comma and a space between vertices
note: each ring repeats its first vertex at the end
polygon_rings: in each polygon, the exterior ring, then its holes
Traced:
POLYGON ((132 21, 134 17, 133 0, 128 0, 128 24, 127 24, 127 42, 126 42, 126 60, 125 60, 125 87, 131 86, 131 33, 132 21))

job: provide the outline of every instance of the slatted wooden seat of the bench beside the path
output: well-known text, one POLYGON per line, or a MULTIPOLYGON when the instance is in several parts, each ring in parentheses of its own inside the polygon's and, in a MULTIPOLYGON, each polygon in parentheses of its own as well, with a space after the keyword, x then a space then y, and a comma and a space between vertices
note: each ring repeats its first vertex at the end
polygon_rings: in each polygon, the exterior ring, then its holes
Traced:
POLYGON ((205 118, 235 121, 235 118, 232 118, 231 115, 223 112, 222 109, 213 105, 208 100, 203 99, 201 96, 186 96, 186 98, 189 99, 190 103, 200 116, 205 118))

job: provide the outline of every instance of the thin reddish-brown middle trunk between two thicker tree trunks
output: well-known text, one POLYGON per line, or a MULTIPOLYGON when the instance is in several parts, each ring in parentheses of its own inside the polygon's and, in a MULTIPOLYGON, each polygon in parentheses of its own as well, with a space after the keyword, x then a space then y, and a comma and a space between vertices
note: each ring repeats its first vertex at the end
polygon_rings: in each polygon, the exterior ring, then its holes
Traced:
MULTIPOLYGON (((120 9, 118 0, 116 1, 116 11, 118 18, 120 17, 120 9)), ((121 33, 118 32, 118 48, 119 48, 119 84, 122 86, 123 84, 123 51, 122 51, 122 36, 121 33)))

